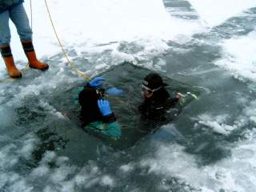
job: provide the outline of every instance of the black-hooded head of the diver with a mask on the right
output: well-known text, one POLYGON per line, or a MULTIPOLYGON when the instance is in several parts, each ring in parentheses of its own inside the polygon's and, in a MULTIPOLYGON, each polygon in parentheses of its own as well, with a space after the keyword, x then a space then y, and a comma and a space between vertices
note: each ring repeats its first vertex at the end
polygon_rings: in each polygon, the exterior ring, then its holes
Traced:
POLYGON ((162 82, 162 78, 159 74, 148 74, 142 81, 142 95, 144 98, 151 98, 154 93, 156 93, 158 90, 161 90, 163 86, 166 86, 166 83, 162 82))

